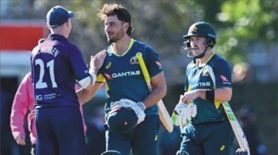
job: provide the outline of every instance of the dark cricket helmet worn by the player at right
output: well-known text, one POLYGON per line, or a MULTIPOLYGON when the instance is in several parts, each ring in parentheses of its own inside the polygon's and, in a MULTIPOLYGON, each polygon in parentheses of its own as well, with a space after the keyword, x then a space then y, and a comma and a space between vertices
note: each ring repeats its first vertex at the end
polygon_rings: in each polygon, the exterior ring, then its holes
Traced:
MULTIPOLYGON (((211 26, 211 24, 208 24, 204 21, 197 22, 190 26, 188 30, 188 34, 184 35, 183 38, 190 40, 190 37, 193 36, 199 36, 199 37, 206 37, 206 46, 213 48, 213 46, 216 44, 216 33, 211 26)), ((190 42, 185 42, 187 48, 190 48, 190 42)))

